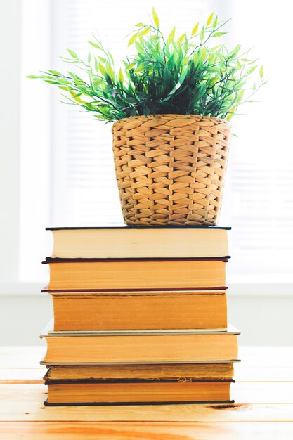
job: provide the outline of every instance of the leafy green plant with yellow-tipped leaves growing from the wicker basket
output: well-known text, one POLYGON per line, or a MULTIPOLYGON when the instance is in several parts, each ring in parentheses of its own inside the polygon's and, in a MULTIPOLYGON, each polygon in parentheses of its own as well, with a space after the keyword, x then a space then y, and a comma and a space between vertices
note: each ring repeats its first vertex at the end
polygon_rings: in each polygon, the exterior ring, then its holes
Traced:
POLYGON ((240 45, 228 50, 219 42, 227 33, 226 23, 212 13, 189 33, 176 37, 174 27, 164 36, 152 9, 152 21, 138 23, 131 32, 129 46, 134 45, 136 53, 126 57, 118 71, 108 48, 94 37, 89 41, 94 52, 87 60, 71 49, 67 49, 70 58, 62 57, 79 67, 80 74, 48 70, 29 77, 55 84, 71 103, 105 121, 162 113, 230 119, 242 103, 252 101, 265 81, 263 67, 249 51, 240 45))

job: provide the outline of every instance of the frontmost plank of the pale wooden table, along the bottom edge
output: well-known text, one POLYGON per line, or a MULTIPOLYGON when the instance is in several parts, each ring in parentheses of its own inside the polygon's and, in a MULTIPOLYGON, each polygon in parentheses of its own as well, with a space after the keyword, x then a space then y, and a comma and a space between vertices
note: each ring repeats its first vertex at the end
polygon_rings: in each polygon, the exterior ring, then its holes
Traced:
POLYGON ((293 423, 0 422, 6 440, 289 440, 293 423))

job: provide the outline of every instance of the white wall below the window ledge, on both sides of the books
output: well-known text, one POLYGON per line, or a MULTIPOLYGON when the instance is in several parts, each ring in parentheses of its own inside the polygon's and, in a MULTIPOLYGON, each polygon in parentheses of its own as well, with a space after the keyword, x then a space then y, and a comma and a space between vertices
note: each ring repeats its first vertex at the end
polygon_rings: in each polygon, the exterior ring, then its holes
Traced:
MULTIPOLYGON (((242 345, 292 345, 293 297, 228 296, 230 323, 242 334, 242 345)), ((51 298, 38 296, 0 297, 0 345, 45 344, 39 333, 52 318, 51 298)))

